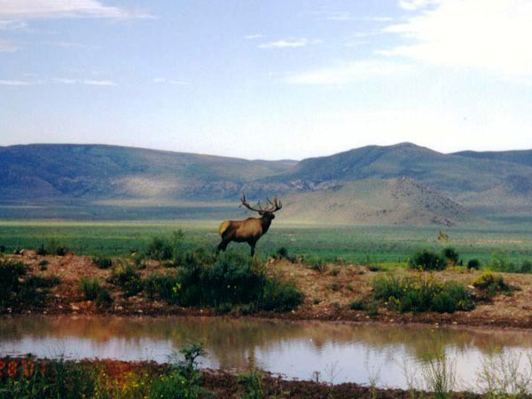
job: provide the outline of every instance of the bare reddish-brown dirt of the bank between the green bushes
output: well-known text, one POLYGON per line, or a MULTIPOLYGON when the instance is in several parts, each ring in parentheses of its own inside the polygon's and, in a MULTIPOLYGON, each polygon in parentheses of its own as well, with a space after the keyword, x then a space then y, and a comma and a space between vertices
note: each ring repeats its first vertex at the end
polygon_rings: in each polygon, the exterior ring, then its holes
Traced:
MULTIPOLYGON (((40 309, 5 309, 7 313, 38 312, 44 314, 118 314, 118 315, 214 315, 211 309, 191 309, 168 306, 164 301, 153 301, 145 294, 125 298, 120 287, 106 282, 111 270, 98 269, 90 256, 38 256, 27 251, 22 255, 9 255, 13 261, 27 264, 30 273, 43 276, 57 276, 58 286, 51 288, 50 300, 40 309), (47 264, 42 266, 43 261, 47 264), (44 270, 45 269, 45 270, 44 270), (80 289, 80 278, 98 278, 111 292, 113 303, 98 306, 86 301, 80 289)), ((357 322, 380 322, 386 324, 423 323, 440 325, 477 325, 497 327, 532 327, 532 275, 504 273, 505 282, 519 288, 511 295, 499 294, 491 301, 479 302, 471 311, 449 313, 426 312, 420 314, 398 313, 381 306, 378 314, 364 310, 352 310, 350 304, 372 291, 372 279, 382 271, 371 271, 357 265, 328 265, 326 270, 312 270, 308 265, 293 264, 285 260, 268 263, 270 273, 278 273, 282 278, 293 280, 305 294, 304 303, 291 312, 260 313, 259 317, 288 319, 345 320, 357 322)), ((148 262, 141 277, 153 272, 168 272, 160 262, 148 262)), ((408 275, 408 270, 395 270, 397 275, 408 275)), ((439 281, 457 281, 468 286, 481 271, 445 270, 433 273, 439 281)), ((23 305, 23 304, 22 304, 23 305)), ((235 315, 238 316, 238 315, 235 315)))

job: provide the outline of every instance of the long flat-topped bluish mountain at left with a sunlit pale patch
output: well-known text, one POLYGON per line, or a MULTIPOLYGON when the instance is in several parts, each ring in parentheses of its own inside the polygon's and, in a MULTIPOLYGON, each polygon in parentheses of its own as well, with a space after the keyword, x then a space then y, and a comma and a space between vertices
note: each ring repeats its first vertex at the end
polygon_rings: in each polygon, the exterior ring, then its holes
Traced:
POLYGON ((295 163, 113 145, 14 145, 0 147, 0 200, 220 199, 295 163))

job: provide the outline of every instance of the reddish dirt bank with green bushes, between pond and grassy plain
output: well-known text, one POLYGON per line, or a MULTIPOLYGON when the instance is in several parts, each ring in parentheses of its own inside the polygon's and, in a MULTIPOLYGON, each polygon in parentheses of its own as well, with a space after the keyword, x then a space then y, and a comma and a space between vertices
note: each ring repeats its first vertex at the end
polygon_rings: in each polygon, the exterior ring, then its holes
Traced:
MULTIPOLYGON (((293 319, 532 326, 532 275, 460 266, 459 254, 420 251, 395 269, 289 254, 266 261, 154 238, 128 257, 0 258, 2 313, 255 315, 293 319)), ((521 270, 522 271, 522 270, 521 270)))

